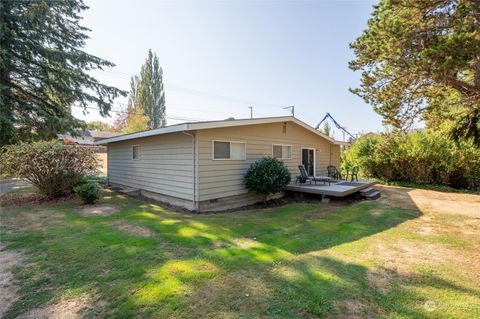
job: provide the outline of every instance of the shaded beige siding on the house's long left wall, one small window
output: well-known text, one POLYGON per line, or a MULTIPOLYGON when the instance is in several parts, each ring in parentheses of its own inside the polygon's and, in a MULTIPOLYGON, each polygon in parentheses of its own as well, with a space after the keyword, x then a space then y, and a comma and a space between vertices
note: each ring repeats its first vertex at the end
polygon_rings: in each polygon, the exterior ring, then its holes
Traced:
POLYGON ((163 134, 108 145, 109 183, 194 200, 193 138, 163 134), (140 158, 132 159, 132 146, 140 158))

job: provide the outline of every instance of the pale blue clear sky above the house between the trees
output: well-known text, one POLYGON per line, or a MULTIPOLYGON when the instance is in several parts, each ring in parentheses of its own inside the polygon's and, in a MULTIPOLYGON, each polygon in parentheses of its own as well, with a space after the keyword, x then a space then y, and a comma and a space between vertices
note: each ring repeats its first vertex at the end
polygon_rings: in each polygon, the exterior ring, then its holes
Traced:
MULTIPOLYGON (((87 1, 89 53, 116 67, 92 74, 129 89, 148 49, 164 70, 168 124, 181 119, 295 115, 315 125, 330 112, 353 133, 382 130, 381 117, 348 91, 348 45, 366 27, 371 1, 87 1)), ((114 109, 125 105, 119 99, 114 109)), ((102 119, 94 110, 86 120, 102 119)), ((112 113, 114 115, 115 113, 112 113)))

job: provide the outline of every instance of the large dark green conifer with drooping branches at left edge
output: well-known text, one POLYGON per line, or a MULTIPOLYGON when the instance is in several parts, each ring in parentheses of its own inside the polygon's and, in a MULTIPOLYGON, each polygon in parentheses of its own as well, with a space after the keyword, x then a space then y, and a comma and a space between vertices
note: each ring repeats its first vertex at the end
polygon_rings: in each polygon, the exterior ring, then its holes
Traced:
POLYGON ((83 124, 73 104, 106 116, 125 94, 87 73, 114 64, 82 50, 86 9, 82 0, 1 0, 0 145, 73 130, 83 124))

